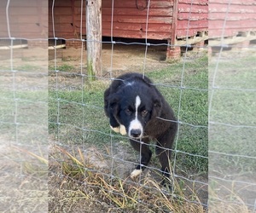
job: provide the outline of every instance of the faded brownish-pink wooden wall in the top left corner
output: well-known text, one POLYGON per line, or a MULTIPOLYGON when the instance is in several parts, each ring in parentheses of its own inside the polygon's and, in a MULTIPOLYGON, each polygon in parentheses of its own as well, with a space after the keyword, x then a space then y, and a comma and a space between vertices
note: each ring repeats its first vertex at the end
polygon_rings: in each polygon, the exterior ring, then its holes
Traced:
POLYGON ((7 0, 0 1, 0 37, 48 37, 48 3, 46 1, 10 1, 7 19, 7 0))

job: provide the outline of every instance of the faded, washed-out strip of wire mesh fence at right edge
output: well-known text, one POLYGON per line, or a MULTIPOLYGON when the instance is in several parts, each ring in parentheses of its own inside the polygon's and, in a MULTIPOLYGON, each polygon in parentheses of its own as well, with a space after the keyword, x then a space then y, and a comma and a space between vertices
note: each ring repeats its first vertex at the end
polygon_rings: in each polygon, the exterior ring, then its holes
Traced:
POLYGON ((255 5, 212 1, 209 9, 209 210, 255 212, 255 5))

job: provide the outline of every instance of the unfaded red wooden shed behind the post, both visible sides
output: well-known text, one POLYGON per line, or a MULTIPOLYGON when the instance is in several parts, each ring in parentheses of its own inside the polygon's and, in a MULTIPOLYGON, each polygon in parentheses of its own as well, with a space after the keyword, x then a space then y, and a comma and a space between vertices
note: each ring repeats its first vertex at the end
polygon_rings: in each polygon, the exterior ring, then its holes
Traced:
MULTIPOLYGON (((55 0, 53 5, 49 0, 49 37, 86 38, 85 2, 55 0)), ((172 45, 200 43, 207 39, 207 18, 207 0, 102 0, 103 37, 147 37, 172 45)), ((76 44, 67 41, 69 45, 76 44)), ((179 54, 177 47, 169 49, 167 56, 179 54)))

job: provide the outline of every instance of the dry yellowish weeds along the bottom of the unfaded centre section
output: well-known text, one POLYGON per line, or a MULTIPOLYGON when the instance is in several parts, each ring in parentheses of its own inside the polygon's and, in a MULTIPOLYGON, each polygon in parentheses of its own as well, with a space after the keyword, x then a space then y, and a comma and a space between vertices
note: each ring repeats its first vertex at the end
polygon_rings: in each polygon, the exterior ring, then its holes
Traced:
MULTIPOLYGON (((128 179, 111 178, 103 175, 104 173, 102 173, 99 168, 93 166, 93 164, 90 163, 90 159, 85 159, 79 148, 76 152, 78 156, 67 152, 67 150, 62 147, 55 146, 53 147, 53 151, 54 154, 61 154, 65 162, 65 164, 59 164, 59 169, 62 174, 68 176, 70 182, 76 180, 76 185, 79 185, 79 193, 75 194, 73 199, 76 199, 76 197, 79 197, 77 199, 83 198, 85 203, 97 200, 102 203, 101 211, 206 212, 192 188, 189 188, 192 195, 187 196, 183 193, 183 182, 182 184, 177 181, 173 183, 176 188, 176 199, 173 199, 172 193, 166 192, 166 190, 160 187, 158 182, 154 181, 154 179, 149 176, 142 180, 143 184, 131 182, 128 179), (86 187, 83 187, 84 185, 86 187), (192 197, 195 202, 189 201, 192 197)), ((105 170, 105 174, 109 172, 110 171, 105 170)), ((51 178, 53 178, 53 176, 51 178)), ((70 188, 67 187, 66 190, 63 191, 67 190, 70 190, 70 188)), ((62 204, 61 209, 63 210, 69 204, 72 204, 73 199, 69 200, 66 204, 62 204)), ((50 199, 49 202, 49 205, 53 206, 51 210, 55 211, 58 205, 55 207, 54 204, 51 203, 53 199, 50 199)), ((89 206, 87 206, 87 209, 88 207, 89 206)))

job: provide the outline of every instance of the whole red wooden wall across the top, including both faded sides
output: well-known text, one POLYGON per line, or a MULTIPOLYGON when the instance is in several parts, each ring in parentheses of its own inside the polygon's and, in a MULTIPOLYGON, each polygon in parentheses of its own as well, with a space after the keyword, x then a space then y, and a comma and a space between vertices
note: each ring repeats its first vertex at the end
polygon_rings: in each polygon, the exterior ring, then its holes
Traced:
MULTIPOLYGON (((52 1, 10 1, 9 29, 12 37, 64 37, 79 38, 81 0, 55 0, 52 24, 52 1), (45 5, 43 5, 45 4, 45 5), (49 28, 47 22, 49 19, 49 28)), ((6 4, 0 1, 0 36, 8 37, 6 4)), ((85 0, 82 9, 82 35, 85 35, 85 0)), ((146 37, 146 0, 113 1, 113 37, 146 37), (137 4, 136 4, 137 3, 137 4)), ((241 32, 256 31, 255 0, 151 0, 148 17, 148 38, 170 39, 196 35, 207 31, 210 37, 236 36, 241 32), (175 1, 175 2, 174 2, 175 1), (191 2, 193 3, 191 5, 191 2), (177 3, 177 7, 174 4, 177 3), (173 10, 174 9, 174 10, 173 10), (176 10, 175 10, 176 9, 176 10), (228 15, 227 15, 228 12, 228 15), (209 16, 209 17, 208 17, 209 16), (208 19, 209 18, 209 19, 208 19), (207 21, 207 19, 209 21, 207 21), (173 27, 173 20, 176 25, 173 27), (223 28, 225 26, 225 30, 223 28), (175 29, 176 28, 176 29, 175 29), (173 32, 175 30, 175 32, 173 32), (175 33, 175 35, 173 34, 175 33)), ((102 0, 102 34, 111 36, 112 0, 102 0)))

